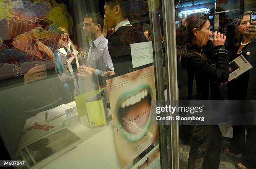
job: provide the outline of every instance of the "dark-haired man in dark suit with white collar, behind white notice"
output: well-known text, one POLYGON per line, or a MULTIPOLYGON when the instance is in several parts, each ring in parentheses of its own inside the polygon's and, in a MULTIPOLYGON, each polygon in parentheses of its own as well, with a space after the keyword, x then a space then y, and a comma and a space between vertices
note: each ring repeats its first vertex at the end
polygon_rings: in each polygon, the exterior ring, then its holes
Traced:
POLYGON ((133 27, 127 18, 129 3, 126 0, 105 0, 105 17, 108 27, 115 32, 108 40, 108 50, 116 75, 138 70, 132 65, 131 44, 147 42, 143 32, 133 27))

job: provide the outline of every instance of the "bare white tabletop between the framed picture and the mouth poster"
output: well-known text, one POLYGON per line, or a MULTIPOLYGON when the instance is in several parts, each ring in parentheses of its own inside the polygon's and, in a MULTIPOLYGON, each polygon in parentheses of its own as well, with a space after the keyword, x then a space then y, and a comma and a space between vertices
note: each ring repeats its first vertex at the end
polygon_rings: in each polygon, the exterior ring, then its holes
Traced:
MULTIPOLYGON (((89 131, 80 124, 72 129, 81 139, 89 131)), ((55 159, 44 169, 120 169, 112 125, 93 135, 76 148, 55 159)))

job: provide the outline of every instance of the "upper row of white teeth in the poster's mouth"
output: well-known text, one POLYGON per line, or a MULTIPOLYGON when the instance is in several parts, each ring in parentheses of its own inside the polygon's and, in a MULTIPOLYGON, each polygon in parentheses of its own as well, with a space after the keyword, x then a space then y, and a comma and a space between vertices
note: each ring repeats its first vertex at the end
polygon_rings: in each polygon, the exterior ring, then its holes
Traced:
POLYGON ((143 89, 141 90, 141 92, 138 92, 137 94, 134 94, 133 96, 125 99, 125 101, 123 101, 123 103, 121 104, 121 107, 125 108, 125 106, 128 107, 130 105, 136 104, 140 102, 141 99, 144 99, 147 95, 148 95, 148 90, 143 89))

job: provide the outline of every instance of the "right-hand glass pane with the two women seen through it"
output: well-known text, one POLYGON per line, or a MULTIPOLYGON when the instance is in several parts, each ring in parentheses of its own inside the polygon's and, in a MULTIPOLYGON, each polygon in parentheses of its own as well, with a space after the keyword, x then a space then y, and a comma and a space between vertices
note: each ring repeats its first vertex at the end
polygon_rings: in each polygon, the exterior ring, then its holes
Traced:
POLYGON ((227 115, 214 112, 225 118, 215 126, 179 126, 180 167, 255 168, 250 157, 256 153, 255 127, 239 123, 248 112, 255 117, 255 1, 175 0, 174 8, 179 99, 190 104, 218 100, 229 104, 226 111, 232 109, 227 115), (245 70, 240 58, 252 67, 245 70))

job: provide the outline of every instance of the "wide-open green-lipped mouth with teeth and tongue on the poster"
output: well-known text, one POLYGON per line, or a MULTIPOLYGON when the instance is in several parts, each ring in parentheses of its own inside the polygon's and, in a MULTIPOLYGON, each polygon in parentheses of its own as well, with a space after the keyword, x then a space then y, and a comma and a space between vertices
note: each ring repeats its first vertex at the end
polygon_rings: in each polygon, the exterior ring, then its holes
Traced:
POLYGON ((151 87, 142 84, 118 98, 115 113, 123 126, 120 131, 130 142, 137 142, 148 133, 151 125, 151 95, 151 87))

